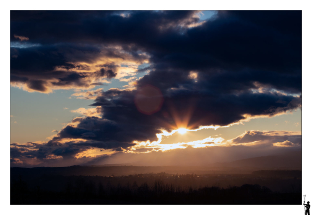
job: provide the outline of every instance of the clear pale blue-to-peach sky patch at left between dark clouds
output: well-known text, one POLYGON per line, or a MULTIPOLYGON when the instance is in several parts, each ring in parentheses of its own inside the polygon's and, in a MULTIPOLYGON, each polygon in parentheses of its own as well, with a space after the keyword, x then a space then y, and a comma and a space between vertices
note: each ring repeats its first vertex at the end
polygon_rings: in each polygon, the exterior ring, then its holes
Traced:
MULTIPOLYGON (((144 63, 138 69, 149 67, 150 64, 144 63)), ((138 72, 135 79, 145 76, 148 71, 138 72)), ((126 77, 127 78, 127 77, 126 77)), ((110 88, 125 89, 124 85, 128 82, 119 81, 112 78, 111 83, 104 83, 91 90, 103 88, 107 91, 110 88)), ((85 92, 85 91, 82 91, 85 92)), ((61 130, 64 123, 70 122, 73 118, 81 116, 72 113, 71 110, 78 108, 92 108, 89 106, 94 100, 84 100, 71 97, 74 90, 54 90, 53 93, 29 93, 19 88, 11 87, 11 143, 48 141, 56 133, 52 130, 61 130), (67 109, 64 109, 67 108, 67 109)))

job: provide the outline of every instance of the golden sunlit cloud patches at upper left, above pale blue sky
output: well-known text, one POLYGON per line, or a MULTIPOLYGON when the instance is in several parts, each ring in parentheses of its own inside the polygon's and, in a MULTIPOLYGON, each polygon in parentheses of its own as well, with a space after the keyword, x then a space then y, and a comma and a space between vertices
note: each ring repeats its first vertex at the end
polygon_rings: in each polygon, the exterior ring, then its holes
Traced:
MULTIPOLYGON (((28 38, 15 35, 15 38, 27 40, 28 38)), ((40 89, 33 87, 33 82, 12 81, 11 86, 20 88, 27 92, 39 93, 53 93, 54 90, 91 90, 98 84, 109 84, 111 79, 115 78, 119 81, 128 82, 128 85, 135 89, 136 75, 140 65, 149 63, 150 56, 147 53, 140 52, 136 56, 123 50, 121 46, 99 46, 99 52, 83 52, 81 50, 72 50, 70 53, 63 53, 64 58, 68 59, 66 62, 72 66, 55 65, 51 72, 56 72, 59 75, 49 76, 49 74, 42 74, 28 78, 29 80, 40 83, 40 89), (77 58, 83 55, 85 59, 77 58), (110 74, 103 74, 100 71, 106 71, 110 74), (66 81, 64 78, 76 74, 78 80, 66 81), (45 77, 44 77, 45 76, 45 77), (34 79, 32 79, 34 78, 34 79)), ((74 96, 83 96, 76 94, 74 96)), ((85 98, 85 97, 82 97, 85 98)), ((88 97, 93 99, 95 97, 88 97)))

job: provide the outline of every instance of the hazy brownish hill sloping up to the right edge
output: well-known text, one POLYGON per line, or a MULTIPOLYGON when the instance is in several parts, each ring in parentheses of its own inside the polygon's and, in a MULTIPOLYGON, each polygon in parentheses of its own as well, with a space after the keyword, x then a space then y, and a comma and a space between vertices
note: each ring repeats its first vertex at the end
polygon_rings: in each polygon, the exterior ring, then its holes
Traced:
POLYGON ((288 168, 301 170, 301 151, 273 156, 260 156, 226 163, 215 163, 219 167, 288 168))

